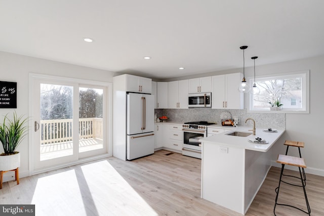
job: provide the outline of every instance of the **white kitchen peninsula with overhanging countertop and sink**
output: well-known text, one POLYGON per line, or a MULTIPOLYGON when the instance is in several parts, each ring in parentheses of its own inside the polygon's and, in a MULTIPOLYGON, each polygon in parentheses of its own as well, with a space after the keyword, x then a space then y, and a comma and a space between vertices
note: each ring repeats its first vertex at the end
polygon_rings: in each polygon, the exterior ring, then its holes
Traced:
MULTIPOLYGON (((285 132, 264 132, 239 126, 230 132, 200 139, 202 145, 201 198, 245 214, 271 167, 271 147, 285 132), (251 133, 246 137, 233 132, 251 133), (236 134, 237 135, 237 134, 236 134), (256 138, 267 141, 252 143, 256 138)), ((247 134, 246 134, 247 135, 247 134)))

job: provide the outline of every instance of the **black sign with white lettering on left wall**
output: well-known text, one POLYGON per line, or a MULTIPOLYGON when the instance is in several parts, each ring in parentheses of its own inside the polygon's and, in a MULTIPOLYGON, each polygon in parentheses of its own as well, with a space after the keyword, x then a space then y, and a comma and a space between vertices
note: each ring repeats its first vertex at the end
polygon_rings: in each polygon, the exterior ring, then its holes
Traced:
POLYGON ((0 81, 0 108, 17 108, 17 82, 0 81))

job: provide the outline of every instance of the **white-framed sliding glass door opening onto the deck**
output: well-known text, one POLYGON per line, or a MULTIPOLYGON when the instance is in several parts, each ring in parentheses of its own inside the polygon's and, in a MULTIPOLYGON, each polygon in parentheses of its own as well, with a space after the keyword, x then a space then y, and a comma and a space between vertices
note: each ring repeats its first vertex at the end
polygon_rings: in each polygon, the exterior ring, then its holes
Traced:
POLYGON ((106 86, 37 77, 32 85, 33 169, 108 153, 106 86))

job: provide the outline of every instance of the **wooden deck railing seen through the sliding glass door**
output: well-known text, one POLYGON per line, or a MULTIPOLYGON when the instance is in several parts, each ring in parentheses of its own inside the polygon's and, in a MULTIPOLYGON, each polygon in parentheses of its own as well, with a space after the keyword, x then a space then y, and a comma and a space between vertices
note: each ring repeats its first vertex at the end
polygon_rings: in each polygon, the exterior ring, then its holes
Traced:
MULTIPOLYGON (((41 144, 72 141, 73 119, 41 120, 41 144)), ((80 139, 102 139, 102 118, 79 118, 80 139)))

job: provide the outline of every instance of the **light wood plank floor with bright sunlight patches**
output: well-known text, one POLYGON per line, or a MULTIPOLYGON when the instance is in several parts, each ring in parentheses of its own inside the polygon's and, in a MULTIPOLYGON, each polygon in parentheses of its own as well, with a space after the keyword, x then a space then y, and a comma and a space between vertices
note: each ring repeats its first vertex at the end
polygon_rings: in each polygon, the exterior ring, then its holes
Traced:
MULTIPOLYGON (((36 215, 241 215, 200 198, 201 160, 160 150, 114 157, 6 182, 0 204, 35 204, 36 215)), ((296 173, 287 170, 287 174, 296 173)), ((274 215, 280 169, 272 167, 246 215, 274 215)), ((311 215, 324 215, 324 177, 307 174, 311 215)), ((301 188, 282 185, 279 201, 306 208, 301 188)), ((277 215, 306 215, 278 206, 277 215)))

